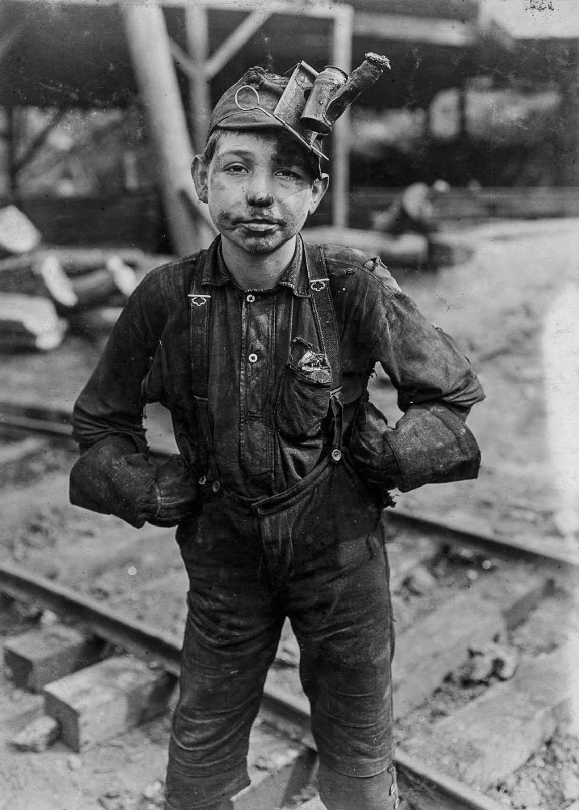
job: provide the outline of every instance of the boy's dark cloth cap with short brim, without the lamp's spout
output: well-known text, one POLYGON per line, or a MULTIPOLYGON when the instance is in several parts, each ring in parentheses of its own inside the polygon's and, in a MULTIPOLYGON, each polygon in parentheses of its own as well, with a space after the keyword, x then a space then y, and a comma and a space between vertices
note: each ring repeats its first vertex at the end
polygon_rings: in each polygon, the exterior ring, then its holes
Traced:
MULTIPOLYGON (((305 63, 302 62, 302 65, 305 63)), ((307 69, 308 66, 305 67, 307 69)), ((311 70, 311 81, 315 79, 316 75, 315 70, 311 70)), ((311 81, 307 82, 306 89, 311 87, 311 81)), ((217 128, 222 130, 285 130, 311 153, 314 158, 312 163, 316 175, 320 177, 320 161, 326 161, 328 158, 322 151, 319 134, 308 130, 299 120, 306 105, 305 93, 294 95, 290 103, 285 104, 283 112, 278 109, 274 116, 288 84, 288 76, 269 73, 259 66, 251 67, 217 101, 209 119, 208 137, 217 128)))

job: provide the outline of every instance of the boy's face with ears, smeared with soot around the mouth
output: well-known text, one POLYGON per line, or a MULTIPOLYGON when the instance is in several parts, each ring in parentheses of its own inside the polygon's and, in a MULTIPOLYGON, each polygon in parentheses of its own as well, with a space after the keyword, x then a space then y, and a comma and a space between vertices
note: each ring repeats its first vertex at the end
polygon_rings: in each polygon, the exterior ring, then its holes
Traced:
POLYGON ((195 157, 193 179, 222 238, 247 254, 295 237, 328 187, 299 143, 277 130, 223 130, 208 165, 195 157))

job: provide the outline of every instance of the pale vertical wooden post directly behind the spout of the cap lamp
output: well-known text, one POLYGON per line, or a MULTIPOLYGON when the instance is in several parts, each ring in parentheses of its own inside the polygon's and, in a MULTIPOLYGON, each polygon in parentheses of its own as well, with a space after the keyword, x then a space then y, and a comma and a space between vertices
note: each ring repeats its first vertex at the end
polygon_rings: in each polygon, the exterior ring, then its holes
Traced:
MULTIPOLYGON (((354 9, 341 6, 336 9, 332 26, 332 65, 350 74, 352 69, 352 31, 354 9)), ((350 113, 345 111, 332 131, 332 224, 335 228, 348 225, 348 192, 350 189, 350 113)))

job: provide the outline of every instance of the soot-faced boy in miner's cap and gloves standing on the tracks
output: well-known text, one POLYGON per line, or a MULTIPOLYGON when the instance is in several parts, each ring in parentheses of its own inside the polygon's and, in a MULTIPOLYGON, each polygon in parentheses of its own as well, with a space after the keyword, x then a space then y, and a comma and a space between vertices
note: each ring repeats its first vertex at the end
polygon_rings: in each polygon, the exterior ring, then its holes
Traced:
POLYGON ((477 474, 464 419, 482 390, 380 259, 299 236, 328 187, 317 133, 359 92, 354 74, 324 71, 316 86, 302 62, 290 79, 253 68, 229 88, 193 165, 220 236, 144 279, 75 406, 71 500, 177 525, 191 580, 168 810, 225 810, 247 785, 285 616, 324 804, 399 803, 380 516, 395 486, 477 474), (405 411, 395 429, 367 402, 377 362, 405 411), (180 451, 158 468, 146 402, 169 408, 180 451))

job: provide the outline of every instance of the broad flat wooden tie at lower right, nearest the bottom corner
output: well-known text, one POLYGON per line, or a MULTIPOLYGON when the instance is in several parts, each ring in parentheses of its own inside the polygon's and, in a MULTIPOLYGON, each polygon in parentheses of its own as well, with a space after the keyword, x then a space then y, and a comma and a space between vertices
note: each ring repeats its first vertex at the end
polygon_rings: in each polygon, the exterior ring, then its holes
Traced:
POLYGON ((576 640, 526 660, 512 680, 441 719, 427 736, 405 742, 404 750, 453 778, 487 789, 551 737, 558 710, 576 690, 569 663, 577 661, 577 654, 576 640))

